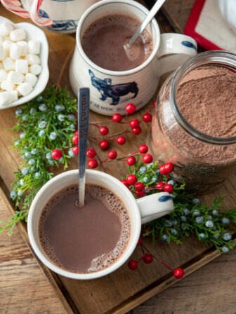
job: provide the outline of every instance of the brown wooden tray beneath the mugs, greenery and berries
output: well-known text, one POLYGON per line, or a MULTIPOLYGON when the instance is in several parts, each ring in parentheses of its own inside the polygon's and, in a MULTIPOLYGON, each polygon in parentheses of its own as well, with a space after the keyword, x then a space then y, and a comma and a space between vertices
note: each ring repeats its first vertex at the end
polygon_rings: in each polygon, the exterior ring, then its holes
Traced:
MULTIPOLYGON (((22 22, 22 19, 4 11, 2 15, 6 16, 13 22, 22 22)), ((175 27, 175 23, 169 20, 167 12, 161 12, 157 15, 161 32, 176 32, 178 29, 175 27)), ((53 32, 45 31, 49 43, 49 68, 50 68, 50 81, 56 83, 58 76, 60 76, 61 68, 65 64, 65 60, 68 59, 68 55, 71 55, 75 46, 74 34, 55 34, 53 32)), ((62 87, 67 86, 70 89, 70 83, 68 80, 68 67, 70 62, 67 62, 65 66, 64 74, 60 80, 62 87)), ((157 95, 155 95, 156 97, 157 95)), ((155 100, 153 97, 153 100, 155 100)), ((135 114, 134 117, 140 118, 140 116, 150 107, 150 104, 135 114)), ((91 121, 106 120, 104 116, 99 116, 91 112, 91 121)), ((11 191, 11 183, 15 180, 13 172, 20 168, 21 158, 13 151, 10 146, 13 144, 13 136, 16 136, 14 132, 10 132, 8 129, 15 124, 15 109, 6 109, 0 111, 0 149, 1 149, 1 164, 0 164, 0 186, 2 193, 5 194, 6 207, 13 213, 14 207, 10 200, 7 200, 9 191, 11 191)), ((142 125, 143 132, 138 137, 131 135, 127 136, 127 143, 122 146, 120 151, 117 146, 116 149, 120 156, 125 156, 126 153, 135 151, 139 144, 145 142, 147 135, 149 134, 150 125, 142 125)), ((111 132, 116 132, 114 127, 111 132)), ((95 144, 96 146, 96 144, 95 144)), ((97 150, 99 151, 99 149, 97 150)), ((99 151, 99 157, 103 160, 106 153, 99 151)), ((77 161, 74 161, 71 168, 77 168, 77 161)), ((127 174, 126 166, 121 161, 114 161, 112 163, 105 164, 105 171, 121 179, 122 176, 127 174)), ((205 202, 211 202, 214 197, 218 196, 218 193, 228 193, 228 198, 225 200, 227 207, 233 207, 235 205, 235 186, 236 177, 232 177, 225 182, 225 184, 214 193, 209 193, 202 197, 205 202)), ((25 242, 29 244, 27 238, 27 231, 25 224, 20 224, 20 231, 25 242)), ((185 269, 185 275, 192 273, 197 268, 208 263, 212 259, 218 256, 218 252, 214 247, 205 247, 195 237, 190 237, 185 241, 183 245, 157 243, 152 245, 150 239, 145 239, 145 245, 148 250, 155 254, 160 260, 171 266, 171 268, 183 267, 185 269)), ((132 258, 138 259, 140 257, 140 251, 137 248, 133 253, 132 258)), ((150 297, 161 292, 167 287, 173 285, 177 280, 173 278, 172 273, 157 263, 153 262, 150 265, 140 264, 140 267, 136 271, 129 271, 126 265, 119 268, 111 275, 107 275, 104 278, 89 281, 71 280, 63 278, 62 276, 55 275, 48 270, 39 261, 39 265, 43 269, 44 273, 50 280, 52 287, 58 294, 58 298, 63 302, 68 313, 85 313, 85 314, 108 314, 108 313, 126 313, 128 310, 138 306, 150 297)))

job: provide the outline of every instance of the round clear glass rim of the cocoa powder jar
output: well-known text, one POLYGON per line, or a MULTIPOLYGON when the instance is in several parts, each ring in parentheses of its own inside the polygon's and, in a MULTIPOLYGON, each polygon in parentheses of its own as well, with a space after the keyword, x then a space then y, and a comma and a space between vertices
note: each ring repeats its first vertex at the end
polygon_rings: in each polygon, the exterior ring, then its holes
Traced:
POLYGON ((188 59, 181 67, 179 67, 173 73, 173 83, 170 87, 170 102, 173 107, 174 114, 176 116, 176 120, 181 125, 181 127, 188 132, 190 135, 194 136, 197 139, 202 140, 203 142, 207 142, 210 144, 235 144, 236 136, 234 137, 213 137, 211 135, 206 135, 203 132, 194 128, 181 114, 180 109, 177 105, 176 100, 176 91, 178 88, 178 83, 181 81, 183 76, 185 76, 192 69, 195 69, 199 66, 206 64, 225 64, 232 68, 235 68, 236 71, 236 55, 234 53, 229 53, 223 50, 211 50, 205 51, 203 53, 199 53, 194 57, 188 59))

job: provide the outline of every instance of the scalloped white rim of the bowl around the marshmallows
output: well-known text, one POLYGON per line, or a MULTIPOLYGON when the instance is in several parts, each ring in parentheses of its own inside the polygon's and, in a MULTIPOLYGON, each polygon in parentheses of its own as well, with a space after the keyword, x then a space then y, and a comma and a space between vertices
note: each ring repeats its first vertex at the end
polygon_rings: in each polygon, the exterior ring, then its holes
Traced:
MULTIPOLYGON (((7 18, 4 18, 0 16, 0 23, 2 22, 11 22, 11 20, 8 20, 7 18)), ((20 28, 20 29, 25 29, 25 32, 27 33, 27 41, 29 40, 37 40, 41 42, 41 49, 39 53, 40 57, 40 62, 41 62, 41 73, 37 76, 37 83, 35 84, 33 90, 31 93, 29 93, 26 96, 21 96, 18 98, 18 100, 15 100, 15 102, 11 102, 10 104, 6 104, 0 109, 7 109, 10 107, 15 107, 20 104, 25 104, 26 102, 29 102, 29 100, 34 99, 37 97, 37 95, 41 94, 44 89, 46 88, 46 85, 48 83, 48 78, 49 78, 49 70, 48 70, 48 41, 46 39, 46 36, 44 32, 39 29, 39 27, 22 22, 18 24, 14 24, 11 22, 13 27, 15 29, 20 28)))

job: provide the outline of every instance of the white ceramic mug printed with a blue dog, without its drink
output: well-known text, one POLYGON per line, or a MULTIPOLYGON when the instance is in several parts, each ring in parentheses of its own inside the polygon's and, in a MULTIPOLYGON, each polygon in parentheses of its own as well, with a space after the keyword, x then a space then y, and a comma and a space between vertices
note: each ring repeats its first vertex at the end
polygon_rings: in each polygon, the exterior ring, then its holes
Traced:
POLYGON ((112 14, 129 15, 141 22, 147 13, 145 6, 133 0, 102 0, 81 15, 70 63, 70 85, 74 95, 81 86, 90 88, 91 110, 112 116, 116 112, 125 115, 125 106, 129 102, 136 104, 137 109, 142 108, 155 94, 159 76, 196 55, 197 43, 194 39, 183 34, 161 35, 157 21, 152 19, 147 26, 153 40, 152 53, 135 69, 111 71, 89 60, 81 46, 81 38, 92 22, 112 14))

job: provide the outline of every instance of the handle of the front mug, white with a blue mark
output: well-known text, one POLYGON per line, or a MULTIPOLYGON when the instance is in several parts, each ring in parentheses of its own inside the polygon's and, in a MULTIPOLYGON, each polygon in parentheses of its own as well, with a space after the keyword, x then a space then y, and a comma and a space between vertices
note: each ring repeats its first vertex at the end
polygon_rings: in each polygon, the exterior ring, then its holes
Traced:
POLYGON ((169 193, 160 192, 143 198, 137 198, 136 203, 140 210, 141 224, 169 214, 173 211, 173 200, 169 193))

